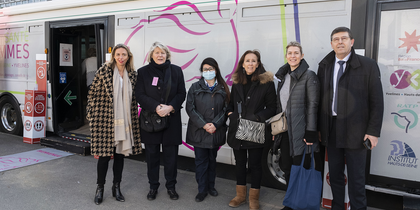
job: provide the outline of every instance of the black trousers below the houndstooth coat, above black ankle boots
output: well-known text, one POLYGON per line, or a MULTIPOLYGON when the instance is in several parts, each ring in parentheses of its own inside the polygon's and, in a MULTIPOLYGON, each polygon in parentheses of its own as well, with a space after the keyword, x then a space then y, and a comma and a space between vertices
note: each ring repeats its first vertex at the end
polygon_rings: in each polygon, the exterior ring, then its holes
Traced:
MULTIPOLYGON (((111 160, 111 157, 99 157, 98 165, 97 165, 97 172, 98 177, 96 184, 104 185, 106 173, 108 172, 108 163, 111 160)), ((115 153, 114 148, 114 166, 112 167, 114 172, 114 181, 113 183, 121 182, 122 179, 122 171, 124 168, 124 155, 115 153)))

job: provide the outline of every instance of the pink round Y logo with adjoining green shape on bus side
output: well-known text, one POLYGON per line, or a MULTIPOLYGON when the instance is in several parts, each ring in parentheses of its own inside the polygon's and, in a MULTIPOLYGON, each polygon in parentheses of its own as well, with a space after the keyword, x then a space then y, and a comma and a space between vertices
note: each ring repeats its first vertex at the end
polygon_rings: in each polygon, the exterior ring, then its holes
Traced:
POLYGON ((399 69, 391 74, 389 81, 392 87, 397 89, 405 89, 409 86, 415 90, 420 89, 420 69, 410 73, 407 70, 399 69))

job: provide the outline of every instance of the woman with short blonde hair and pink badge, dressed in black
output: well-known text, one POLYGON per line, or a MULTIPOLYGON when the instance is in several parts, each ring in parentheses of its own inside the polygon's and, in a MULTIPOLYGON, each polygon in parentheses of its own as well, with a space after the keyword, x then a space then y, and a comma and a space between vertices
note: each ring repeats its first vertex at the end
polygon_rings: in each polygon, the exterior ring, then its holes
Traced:
MULTIPOLYGON (((178 200, 175 191, 177 183, 178 147, 182 143, 181 108, 185 100, 185 81, 182 69, 171 64, 171 53, 167 46, 155 42, 149 50, 148 65, 137 70, 136 98, 143 112, 156 113, 167 117, 169 127, 156 132, 148 132, 140 126, 140 134, 146 150, 147 177, 150 190, 148 200, 158 194, 160 148, 162 146, 163 166, 167 193, 172 200, 178 200)), ((140 122, 142 123, 142 122, 140 122)))

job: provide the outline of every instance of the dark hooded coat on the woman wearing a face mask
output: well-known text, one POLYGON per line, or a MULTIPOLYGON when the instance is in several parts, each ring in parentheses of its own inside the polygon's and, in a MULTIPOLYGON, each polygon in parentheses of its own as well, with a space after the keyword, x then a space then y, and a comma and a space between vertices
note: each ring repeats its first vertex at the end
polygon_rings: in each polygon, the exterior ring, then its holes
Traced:
POLYGON ((200 148, 217 148, 226 142, 226 90, 220 83, 210 91, 204 79, 191 85, 187 96, 187 143, 200 148), (204 125, 213 123, 216 132, 209 134, 204 125))

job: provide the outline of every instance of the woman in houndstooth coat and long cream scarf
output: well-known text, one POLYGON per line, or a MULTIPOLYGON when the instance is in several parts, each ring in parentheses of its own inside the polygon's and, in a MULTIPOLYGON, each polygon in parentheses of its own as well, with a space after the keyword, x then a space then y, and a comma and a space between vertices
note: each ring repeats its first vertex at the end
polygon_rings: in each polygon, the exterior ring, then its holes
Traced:
POLYGON ((112 195, 117 201, 124 201, 120 191, 124 156, 141 153, 136 80, 133 54, 127 46, 118 44, 112 50, 111 61, 96 72, 89 90, 87 119, 92 137, 91 153, 99 156, 94 200, 98 205, 103 200, 111 156, 114 156, 112 195))

